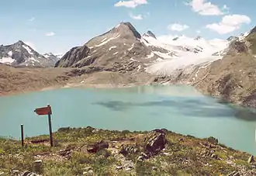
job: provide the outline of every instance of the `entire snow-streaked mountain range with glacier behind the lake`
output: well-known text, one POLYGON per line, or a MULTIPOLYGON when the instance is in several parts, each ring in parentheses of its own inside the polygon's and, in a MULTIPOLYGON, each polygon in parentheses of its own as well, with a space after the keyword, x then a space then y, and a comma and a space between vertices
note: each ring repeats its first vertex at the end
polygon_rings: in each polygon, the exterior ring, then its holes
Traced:
POLYGON ((256 28, 227 40, 157 37, 151 31, 141 35, 130 22, 121 22, 83 46, 71 48, 61 59, 52 53, 41 55, 19 41, 0 47, 0 63, 73 68, 60 77, 64 80, 95 73, 90 81, 106 78, 129 84, 141 77, 144 84, 183 83, 227 101, 256 107, 255 32, 256 28), (105 77, 99 73, 109 74, 105 77))

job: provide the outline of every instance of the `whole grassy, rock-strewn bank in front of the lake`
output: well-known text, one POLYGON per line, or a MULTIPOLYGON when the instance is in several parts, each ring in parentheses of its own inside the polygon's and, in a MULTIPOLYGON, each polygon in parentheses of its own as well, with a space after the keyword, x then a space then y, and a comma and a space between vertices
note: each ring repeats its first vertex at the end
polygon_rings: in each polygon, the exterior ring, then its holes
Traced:
POLYGON ((256 175, 250 154, 166 129, 61 128, 54 146, 48 136, 26 138, 24 148, 0 139, 0 175, 256 175))

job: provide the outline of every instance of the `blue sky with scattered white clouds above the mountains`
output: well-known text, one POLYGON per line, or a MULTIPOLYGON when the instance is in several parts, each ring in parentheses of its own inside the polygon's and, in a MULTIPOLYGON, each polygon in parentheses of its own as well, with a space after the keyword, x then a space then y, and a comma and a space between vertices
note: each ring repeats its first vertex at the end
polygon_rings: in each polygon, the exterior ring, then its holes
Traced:
POLYGON ((119 24, 156 36, 227 39, 256 25, 255 0, 1 0, 0 44, 66 53, 119 24))

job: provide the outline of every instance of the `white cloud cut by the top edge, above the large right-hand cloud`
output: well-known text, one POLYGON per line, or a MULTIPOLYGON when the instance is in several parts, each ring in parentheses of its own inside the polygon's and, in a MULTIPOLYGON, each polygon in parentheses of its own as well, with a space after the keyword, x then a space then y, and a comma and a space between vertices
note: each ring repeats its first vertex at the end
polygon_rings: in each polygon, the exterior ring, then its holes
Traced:
MULTIPOLYGON (((194 12, 198 12, 201 16, 221 16, 223 12, 217 5, 213 5, 212 2, 206 2, 206 0, 192 0, 186 3, 192 7, 194 12)), ((227 8, 227 5, 224 5, 227 8)))

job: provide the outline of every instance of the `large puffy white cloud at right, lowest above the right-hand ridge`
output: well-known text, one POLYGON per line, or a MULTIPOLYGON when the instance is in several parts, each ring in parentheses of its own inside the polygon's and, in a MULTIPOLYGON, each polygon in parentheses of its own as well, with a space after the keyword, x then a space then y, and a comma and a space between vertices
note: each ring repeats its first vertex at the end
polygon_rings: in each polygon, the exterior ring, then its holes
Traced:
POLYGON ((206 25, 206 28, 212 29, 220 34, 231 33, 234 30, 240 28, 242 24, 249 24, 251 19, 248 16, 244 15, 229 15, 223 16, 221 22, 212 23, 206 25))

